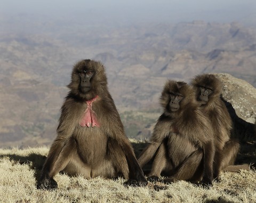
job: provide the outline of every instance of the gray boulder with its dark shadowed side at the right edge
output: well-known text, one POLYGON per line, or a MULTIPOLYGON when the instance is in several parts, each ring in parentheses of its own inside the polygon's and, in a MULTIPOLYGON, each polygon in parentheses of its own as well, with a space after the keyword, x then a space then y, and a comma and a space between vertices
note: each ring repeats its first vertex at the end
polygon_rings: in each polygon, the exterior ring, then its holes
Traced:
POLYGON ((256 163, 256 88, 229 74, 216 76, 223 83, 222 99, 233 120, 233 136, 241 144, 236 164, 256 163))

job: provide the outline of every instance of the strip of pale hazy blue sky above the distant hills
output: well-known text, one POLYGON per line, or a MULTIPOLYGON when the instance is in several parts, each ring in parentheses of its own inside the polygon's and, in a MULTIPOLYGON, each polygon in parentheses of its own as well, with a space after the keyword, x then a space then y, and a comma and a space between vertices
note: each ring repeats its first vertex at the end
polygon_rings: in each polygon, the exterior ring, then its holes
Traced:
POLYGON ((0 12, 44 14, 52 18, 79 15, 101 22, 232 22, 255 17, 256 0, 1 0, 0 12))

